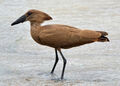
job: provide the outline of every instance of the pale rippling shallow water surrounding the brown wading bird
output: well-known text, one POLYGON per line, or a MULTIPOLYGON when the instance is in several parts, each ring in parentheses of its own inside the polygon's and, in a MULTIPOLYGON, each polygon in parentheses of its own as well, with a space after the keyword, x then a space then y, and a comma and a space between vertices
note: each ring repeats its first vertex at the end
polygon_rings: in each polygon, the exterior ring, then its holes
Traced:
POLYGON ((119 0, 0 0, 0 86, 119 86, 119 0), (50 14, 44 24, 66 24, 104 30, 109 43, 93 43, 63 50, 68 60, 65 80, 60 81, 62 60, 54 75, 54 49, 30 37, 29 22, 10 24, 29 9, 50 14))

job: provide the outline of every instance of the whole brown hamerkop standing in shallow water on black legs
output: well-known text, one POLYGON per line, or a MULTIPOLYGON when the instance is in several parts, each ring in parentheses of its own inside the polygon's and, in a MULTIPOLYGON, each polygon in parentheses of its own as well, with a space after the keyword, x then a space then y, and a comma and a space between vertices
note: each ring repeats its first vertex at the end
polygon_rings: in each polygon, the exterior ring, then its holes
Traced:
POLYGON ((59 60, 57 53, 57 51, 59 51, 63 59, 61 79, 63 79, 64 70, 67 63, 64 55, 61 52, 61 49, 68 49, 92 42, 109 41, 109 39, 105 37, 108 35, 107 32, 81 30, 75 27, 61 24, 42 26, 41 23, 47 20, 52 20, 52 17, 42 11, 32 9, 17 19, 15 22, 13 22, 11 25, 13 26, 18 23, 30 21, 32 38, 39 44, 46 45, 55 49, 56 60, 51 70, 52 74, 59 60))

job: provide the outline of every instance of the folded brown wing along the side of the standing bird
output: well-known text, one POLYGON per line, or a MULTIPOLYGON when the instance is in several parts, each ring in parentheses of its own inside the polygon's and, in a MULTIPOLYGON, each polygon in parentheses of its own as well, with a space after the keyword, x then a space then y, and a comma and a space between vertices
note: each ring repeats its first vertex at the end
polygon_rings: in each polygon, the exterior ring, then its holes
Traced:
POLYGON ((94 42, 101 33, 66 25, 46 25, 39 33, 41 43, 55 48, 70 48, 94 42))

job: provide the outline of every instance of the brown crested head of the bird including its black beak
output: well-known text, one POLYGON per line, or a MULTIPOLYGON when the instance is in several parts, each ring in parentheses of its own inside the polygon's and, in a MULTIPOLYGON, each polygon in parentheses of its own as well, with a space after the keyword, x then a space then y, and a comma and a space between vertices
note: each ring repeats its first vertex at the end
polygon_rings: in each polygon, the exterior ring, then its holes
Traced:
POLYGON ((31 23, 32 22, 42 23, 44 21, 51 20, 51 19, 52 17, 50 17, 48 14, 42 11, 32 9, 26 12, 20 18, 18 18, 15 22, 13 22, 11 26, 19 24, 19 23, 23 23, 25 21, 30 21, 31 23))

